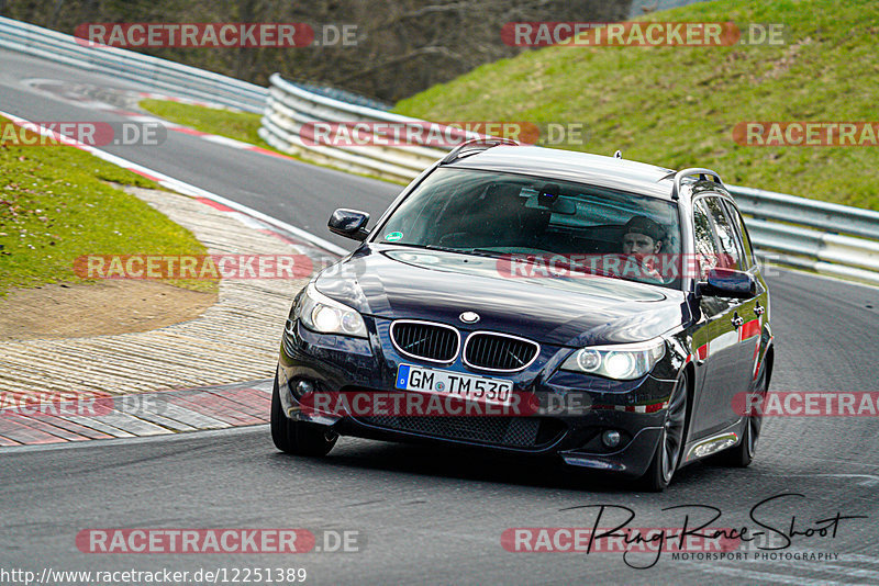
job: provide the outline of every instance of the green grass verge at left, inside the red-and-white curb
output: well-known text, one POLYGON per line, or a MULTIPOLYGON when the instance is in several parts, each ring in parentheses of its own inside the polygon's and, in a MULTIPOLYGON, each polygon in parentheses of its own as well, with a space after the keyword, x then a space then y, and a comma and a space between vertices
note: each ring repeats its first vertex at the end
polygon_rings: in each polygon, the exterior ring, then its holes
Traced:
MULTIPOLYGON (((0 295, 11 288, 88 282, 74 272, 82 255, 207 252, 189 230, 108 184, 155 183, 88 153, 3 143, 0 168, 0 295)), ((216 290, 212 281, 168 283, 216 290)))

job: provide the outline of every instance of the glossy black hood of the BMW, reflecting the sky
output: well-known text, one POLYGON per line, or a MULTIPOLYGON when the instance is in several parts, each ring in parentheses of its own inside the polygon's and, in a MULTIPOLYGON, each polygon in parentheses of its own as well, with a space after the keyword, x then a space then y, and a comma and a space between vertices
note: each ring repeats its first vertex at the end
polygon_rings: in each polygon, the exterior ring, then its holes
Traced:
POLYGON ((497 258, 404 247, 361 247, 324 270, 315 285, 365 315, 556 346, 642 341, 689 318, 680 291, 592 275, 513 278, 499 270, 497 258), (464 312, 476 312, 479 322, 464 324, 464 312))

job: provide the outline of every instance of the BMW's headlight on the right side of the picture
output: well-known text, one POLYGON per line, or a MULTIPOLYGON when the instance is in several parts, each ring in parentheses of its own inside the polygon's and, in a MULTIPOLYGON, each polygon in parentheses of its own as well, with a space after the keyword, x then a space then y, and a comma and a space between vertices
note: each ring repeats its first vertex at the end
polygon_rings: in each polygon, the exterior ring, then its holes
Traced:
POLYGON ((568 357, 561 370, 598 374, 619 381, 644 376, 666 353, 663 338, 646 342, 592 346, 568 357))

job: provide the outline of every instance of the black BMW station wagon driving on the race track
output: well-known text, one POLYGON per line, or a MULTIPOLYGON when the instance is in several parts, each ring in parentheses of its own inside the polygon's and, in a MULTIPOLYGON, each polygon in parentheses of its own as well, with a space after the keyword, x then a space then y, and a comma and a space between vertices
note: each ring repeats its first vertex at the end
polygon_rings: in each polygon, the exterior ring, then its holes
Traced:
POLYGON ((296 297, 278 449, 338 436, 560 457, 661 491, 745 466, 772 373, 769 296, 717 173, 465 143, 296 297))

